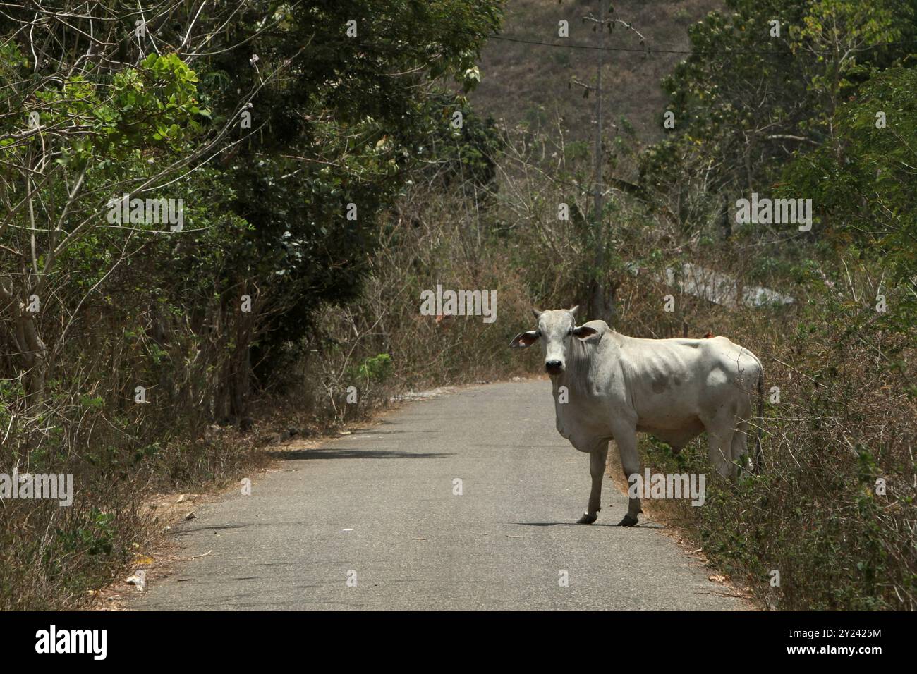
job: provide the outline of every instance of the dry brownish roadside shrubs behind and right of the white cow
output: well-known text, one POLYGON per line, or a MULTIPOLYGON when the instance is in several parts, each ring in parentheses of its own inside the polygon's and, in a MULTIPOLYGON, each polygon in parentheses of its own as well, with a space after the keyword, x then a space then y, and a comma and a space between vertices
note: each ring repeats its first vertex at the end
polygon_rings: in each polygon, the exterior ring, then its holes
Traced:
MULTIPOLYGON (((634 284, 640 297, 628 324, 636 334, 665 332, 666 319, 660 327, 652 309, 671 289, 646 279, 634 284)), ((841 293, 814 282, 790 307, 679 303, 691 337, 709 329, 755 351, 766 392, 779 387, 779 403, 768 395, 760 422, 761 474, 746 473, 735 485, 711 479, 703 438, 678 457, 663 443, 642 441, 654 472, 708 476, 702 507, 657 501, 648 510, 768 607, 917 608, 914 332, 889 329, 864 301, 876 287, 864 273, 841 293), (771 585, 775 570, 779 586, 771 585)), ((682 315, 668 325, 678 326, 682 315)))

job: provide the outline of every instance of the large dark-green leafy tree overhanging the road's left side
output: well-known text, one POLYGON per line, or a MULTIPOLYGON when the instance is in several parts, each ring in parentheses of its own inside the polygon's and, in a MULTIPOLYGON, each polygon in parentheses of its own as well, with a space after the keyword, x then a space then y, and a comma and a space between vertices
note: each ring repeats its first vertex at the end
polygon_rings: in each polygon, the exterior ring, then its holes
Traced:
MULTIPOLYGON (((380 213, 407 171, 429 157, 431 134, 449 127, 443 113, 464 103, 459 96, 447 105, 436 82, 451 77, 463 91, 478 82, 475 59, 499 25, 499 8, 459 0, 280 4, 259 30, 256 4, 227 27, 226 43, 251 39, 248 50, 208 61, 220 75, 214 105, 226 108, 240 86, 258 93, 251 130, 240 129, 224 160, 233 211, 253 227, 227 251, 234 262, 220 290, 248 283, 272 307, 254 354, 262 379, 282 367, 284 351, 304 344, 317 307, 359 293, 380 213), (262 83, 262 70, 279 64, 287 74, 262 83)), ((248 377, 240 365, 231 385, 245 390, 248 377)))

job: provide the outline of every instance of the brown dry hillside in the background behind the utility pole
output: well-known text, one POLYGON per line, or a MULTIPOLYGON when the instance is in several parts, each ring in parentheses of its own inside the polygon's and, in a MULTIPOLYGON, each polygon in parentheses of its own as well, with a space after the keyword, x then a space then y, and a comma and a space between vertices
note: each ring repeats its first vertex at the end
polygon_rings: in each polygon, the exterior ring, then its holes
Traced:
MULTIPOLYGON (((722 6, 722 0, 622 0, 614 3, 612 16, 632 24, 645 36, 650 49, 687 50, 687 27, 722 6)), ((591 139, 593 99, 584 99, 582 88, 569 87, 569 83, 572 78, 595 83, 599 52, 573 45, 599 44, 599 33, 592 30, 594 24, 582 20, 597 13, 599 7, 595 0, 564 0, 559 4, 508 0, 502 37, 490 40, 483 50, 481 85, 472 102, 481 112, 511 125, 527 122, 553 127, 561 116, 569 138, 591 139), (558 38, 561 19, 569 21, 569 38, 558 38)), ((625 28, 614 28, 605 39, 609 48, 641 49, 640 39, 625 28)), ((616 122, 624 116, 642 141, 659 138, 658 119, 666 100, 659 83, 683 58, 677 53, 608 52, 602 69, 605 119, 616 122)))

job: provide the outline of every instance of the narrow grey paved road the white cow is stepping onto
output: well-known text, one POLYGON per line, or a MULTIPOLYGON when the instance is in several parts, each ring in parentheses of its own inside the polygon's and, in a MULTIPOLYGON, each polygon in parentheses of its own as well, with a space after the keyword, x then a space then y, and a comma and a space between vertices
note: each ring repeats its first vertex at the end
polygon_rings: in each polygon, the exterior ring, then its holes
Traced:
POLYGON ((573 524, 589 459, 558 436, 547 381, 407 403, 282 463, 293 470, 250 496, 198 508, 179 536, 187 555, 213 553, 151 583, 134 607, 748 608, 646 515, 613 526, 627 506, 608 478, 598 523, 573 524))

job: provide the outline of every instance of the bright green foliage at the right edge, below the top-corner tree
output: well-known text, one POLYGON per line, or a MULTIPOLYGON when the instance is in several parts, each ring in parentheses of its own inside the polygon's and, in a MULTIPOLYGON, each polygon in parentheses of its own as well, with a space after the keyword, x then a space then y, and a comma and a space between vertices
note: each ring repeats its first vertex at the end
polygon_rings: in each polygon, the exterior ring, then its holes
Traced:
POLYGON ((917 302, 917 70, 875 72, 831 119, 836 142, 794 160, 783 192, 811 194, 838 254, 853 252, 889 271, 890 287, 911 287, 889 313, 914 325, 917 302))

